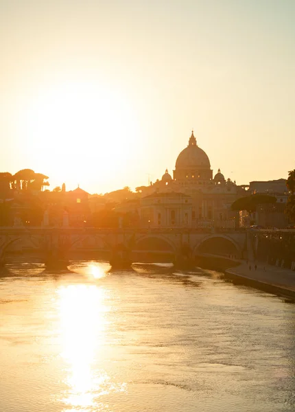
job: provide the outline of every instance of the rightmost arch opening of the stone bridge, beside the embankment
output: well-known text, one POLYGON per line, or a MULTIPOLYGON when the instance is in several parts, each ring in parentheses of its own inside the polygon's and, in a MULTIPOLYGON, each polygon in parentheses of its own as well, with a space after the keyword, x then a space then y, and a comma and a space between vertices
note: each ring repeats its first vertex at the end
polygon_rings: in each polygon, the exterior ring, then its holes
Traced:
POLYGON ((242 249, 240 245, 230 236, 222 233, 211 234, 202 238, 193 248, 193 255, 208 253, 212 255, 236 255, 241 258, 242 249))

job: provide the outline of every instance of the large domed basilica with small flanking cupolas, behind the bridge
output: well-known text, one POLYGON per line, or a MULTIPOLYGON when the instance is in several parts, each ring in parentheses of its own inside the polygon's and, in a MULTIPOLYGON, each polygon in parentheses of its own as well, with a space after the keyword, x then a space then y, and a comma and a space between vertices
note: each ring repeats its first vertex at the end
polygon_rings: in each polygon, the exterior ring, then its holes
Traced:
POLYGON ((169 192, 187 195, 191 198, 191 227, 229 229, 239 225, 239 215, 231 210, 231 205, 248 194, 247 188, 248 185, 238 186, 225 179, 220 169, 213 176, 209 157, 198 146, 192 131, 188 146, 176 159, 173 177, 166 169, 161 180, 138 190, 143 197, 169 192))

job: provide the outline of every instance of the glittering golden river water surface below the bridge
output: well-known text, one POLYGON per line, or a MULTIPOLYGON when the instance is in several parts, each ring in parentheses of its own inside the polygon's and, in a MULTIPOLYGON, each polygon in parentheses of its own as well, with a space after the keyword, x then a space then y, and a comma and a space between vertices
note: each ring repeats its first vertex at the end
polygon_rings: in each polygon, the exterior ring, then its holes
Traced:
POLYGON ((294 411, 295 306, 156 265, 0 275, 1 412, 294 411))

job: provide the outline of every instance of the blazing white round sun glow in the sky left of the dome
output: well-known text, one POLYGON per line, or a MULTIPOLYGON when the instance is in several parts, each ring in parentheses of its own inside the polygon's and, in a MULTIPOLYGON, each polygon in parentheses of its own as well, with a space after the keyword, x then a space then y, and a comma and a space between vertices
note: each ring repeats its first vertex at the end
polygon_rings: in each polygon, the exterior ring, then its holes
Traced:
POLYGON ((99 185, 102 176, 117 178, 136 156, 137 118, 123 91, 68 82, 34 95, 19 127, 32 167, 42 168, 56 184, 76 187, 99 185))

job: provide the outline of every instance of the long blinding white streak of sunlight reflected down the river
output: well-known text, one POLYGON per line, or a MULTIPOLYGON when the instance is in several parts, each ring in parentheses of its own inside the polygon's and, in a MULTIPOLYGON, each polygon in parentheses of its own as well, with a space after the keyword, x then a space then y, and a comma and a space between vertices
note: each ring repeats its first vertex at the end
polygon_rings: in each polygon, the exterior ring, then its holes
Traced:
POLYGON ((95 370, 93 363, 104 345, 106 332, 106 290, 93 285, 70 285, 58 290, 61 356, 68 365, 69 386, 62 402, 71 411, 95 405, 95 397, 106 393, 109 380, 105 371, 95 370))

